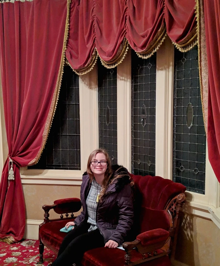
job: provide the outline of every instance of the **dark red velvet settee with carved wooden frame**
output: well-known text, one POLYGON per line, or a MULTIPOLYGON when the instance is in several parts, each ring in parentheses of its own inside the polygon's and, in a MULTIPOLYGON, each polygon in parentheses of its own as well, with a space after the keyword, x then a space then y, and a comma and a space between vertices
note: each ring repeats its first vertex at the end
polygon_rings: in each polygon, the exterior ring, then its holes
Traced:
MULTIPOLYGON (((134 192, 135 221, 133 242, 124 242, 124 250, 95 248, 84 253, 83 266, 168 266, 175 253, 179 211, 185 200, 185 186, 159 176, 135 176, 131 174, 134 192)), ((56 200, 44 205, 44 222, 39 226, 39 263, 43 262, 44 245, 58 252, 66 235, 60 232, 68 221, 74 220, 79 211, 78 198, 56 200), (49 210, 61 214, 59 219, 49 219, 49 210), (71 213, 69 217, 69 213, 71 213), (66 218, 64 218, 65 214, 66 218)), ((132 239, 132 240, 133 240, 132 239)))

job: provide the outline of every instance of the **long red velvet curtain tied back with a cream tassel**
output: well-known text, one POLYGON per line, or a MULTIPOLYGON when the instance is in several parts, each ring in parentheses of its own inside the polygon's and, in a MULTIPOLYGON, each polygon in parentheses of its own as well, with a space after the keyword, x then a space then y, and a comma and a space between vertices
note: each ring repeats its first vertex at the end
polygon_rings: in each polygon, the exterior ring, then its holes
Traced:
POLYGON ((19 167, 36 163, 48 135, 64 64, 67 7, 67 0, 0 4, 3 103, 15 178, 9 184, 7 159, 0 184, 4 241, 19 241, 24 235, 19 167))

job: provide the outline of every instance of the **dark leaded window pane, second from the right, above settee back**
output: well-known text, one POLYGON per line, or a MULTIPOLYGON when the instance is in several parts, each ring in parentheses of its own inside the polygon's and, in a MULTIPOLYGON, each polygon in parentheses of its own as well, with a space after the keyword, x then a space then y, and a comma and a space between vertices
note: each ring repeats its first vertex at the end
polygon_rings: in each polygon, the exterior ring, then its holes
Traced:
POLYGON ((131 59, 132 173, 155 176, 156 55, 131 59))

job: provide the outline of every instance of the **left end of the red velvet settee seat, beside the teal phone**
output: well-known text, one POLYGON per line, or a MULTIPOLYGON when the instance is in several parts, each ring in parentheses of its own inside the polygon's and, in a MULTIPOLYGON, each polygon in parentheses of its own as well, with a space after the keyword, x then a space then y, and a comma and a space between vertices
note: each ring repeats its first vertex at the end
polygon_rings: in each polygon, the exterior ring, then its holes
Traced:
MULTIPOLYGON (((68 220, 68 222, 71 221, 74 221, 74 219, 68 220)), ((67 233, 60 232, 60 229, 66 224, 67 220, 64 219, 61 221, 51 221, 42 225, 39 229, 41 241, 51 250, 58 252, 64 237, 67 235, 67 233)))

